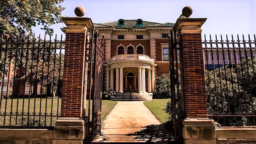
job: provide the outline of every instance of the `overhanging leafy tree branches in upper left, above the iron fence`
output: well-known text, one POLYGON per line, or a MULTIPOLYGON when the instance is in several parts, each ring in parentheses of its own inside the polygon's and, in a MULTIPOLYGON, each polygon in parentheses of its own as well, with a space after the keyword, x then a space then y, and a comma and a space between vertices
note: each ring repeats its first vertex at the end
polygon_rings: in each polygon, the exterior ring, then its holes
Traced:
POLYGON ((0 0, 0 34, 31 32, 41 25, 46 34, 53 34, 52 24, 61 21, 59 4, 64 0, 0 0))

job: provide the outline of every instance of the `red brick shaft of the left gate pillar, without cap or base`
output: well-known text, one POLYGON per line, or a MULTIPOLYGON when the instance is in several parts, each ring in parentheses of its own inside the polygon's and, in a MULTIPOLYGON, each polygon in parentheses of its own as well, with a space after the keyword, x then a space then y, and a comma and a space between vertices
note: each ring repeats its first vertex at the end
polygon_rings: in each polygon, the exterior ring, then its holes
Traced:
POLYGON ((80 118, 82 116, 84 48, 84 33, 66 34, 61 117, 80 118))

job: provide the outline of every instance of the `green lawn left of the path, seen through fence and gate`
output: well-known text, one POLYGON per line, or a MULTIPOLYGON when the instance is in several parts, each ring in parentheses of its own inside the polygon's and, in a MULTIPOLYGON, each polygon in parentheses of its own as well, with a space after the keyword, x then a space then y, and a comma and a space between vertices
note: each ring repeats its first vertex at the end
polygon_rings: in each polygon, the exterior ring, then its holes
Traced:
MULTIPOLYGON (((10 113, 11 109, 12 109, 12 112, 16 112, 17 108, 18 108, 18 112, 22 113, 22 106, 23 106, 23 104, 22 104, 23 99, 22 98, 19 99, 18 106, 17 106, 17 98, 14 98, 12 108, 11 108, 11 104, 10 104, 12 99, 7 99, 7 100, 2 99, 2 103, 1 103, 2 106, 1 106, 0 113, 3 114, 5 112, 5 101, 7 101, 6 113, 10 113)), ((24 99, 24 113, 28 113, 28 107, 29 107, 29 113, 31 114, 31 115, 29 115, 29 125, 30 126, 33 126, 33 125, 34 126, 43 126, 45 124, 45 122, 47 123, 46 124, 47 126, 50 126, 51 124, 52 124, 52 126, 55 125, 57 118, 53 117, 52 121, 51 121, 51 117, 47 116, 46 121, 45 121, 44 113, 46 111, 46 113, 51 114, 51 106, 53 106, 53 115, 56 115, 57 107, 59 107, 58 108, 58 114, 60 114, 61 98, 59 99, 59 106, 57 106, 58 99, 54 98, 53 99, 53 104, 52 104, 51 103, 51 98, 48 98, 48 103, 47 103, 47 109, 46 110, 45 110, 46 98, 42 98, 41 113, 43 113, 43 114, 41 115, 40 124, 39 124, 39 116, 35 116, 35 122, 31 121, 31 120, 33 120, 32 113, 34 112, 34 98, 30 98, 30 105, 29 106, 28 106, 28 102, 29 102, 29 99, 25 98, 24 99)), ((36 102, 35 113, 39 113, 40 98, 36 98, 35 102, 36 102)), ((89 101, 87 100, 86 101, 86 106, 88 106, 88 102, 89 101)), ((116 106, 116 104, 117 104, 117 101, 102 100, 102 103, 101 103, 101 124, 104 123, 104 120, 106 119, 106 116, 109 115, 109 113, 116 106)), ((91 110, 92 110, 92 101, 91 101, 91 106, 90 107, 91 107, 91 110)), ((86 112, 88 114, 88 111, 86 111, 86 112)), ((92 115, 92 111, 91 111, 91 115, 92 115)), ((27 118, 28 118, 28 116, 24 115, 23 124, 21 124, 22 116, 20 116, 20 115, 16 116, 16 114, 14 113, 12 115, 12 119, 11 119, 11 126, 15 126, 15 125, 16 126, 27 126, 27 118), (16 117, 17 117, 17 125, 15 124, 16 117)), ((3 115, 0 116, 0 126, 3 125, 3 119, 4 119, 4 116, 3 115)), ((10 124, 10 116, 6 116, 5 125, 8 126, 9 124, 10 124)))

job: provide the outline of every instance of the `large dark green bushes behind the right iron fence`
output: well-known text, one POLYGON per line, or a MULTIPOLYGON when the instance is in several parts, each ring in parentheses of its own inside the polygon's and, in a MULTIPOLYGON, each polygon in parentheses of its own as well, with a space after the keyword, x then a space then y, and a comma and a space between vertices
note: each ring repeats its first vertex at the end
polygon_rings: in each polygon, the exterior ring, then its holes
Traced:
MULTIPOLYGON (((250 115, 256 112, 256 59, 243 60, 241 65, 226 65, 205 70, 208 113, 250 115)), ((224 125, 224 118, 215 118, 224 125)), ((225 125, 248 125, 248 118, 225 118, 225 125)))

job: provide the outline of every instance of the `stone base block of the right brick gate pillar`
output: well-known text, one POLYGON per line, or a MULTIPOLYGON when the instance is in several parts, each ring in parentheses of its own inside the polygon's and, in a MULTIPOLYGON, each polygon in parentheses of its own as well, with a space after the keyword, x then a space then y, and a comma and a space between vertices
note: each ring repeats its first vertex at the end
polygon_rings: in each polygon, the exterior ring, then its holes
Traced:
POLYGON ((216 144, 213 121, 205 119, 182 120, 184 144, 216 144))

